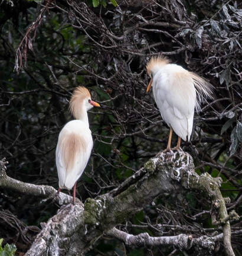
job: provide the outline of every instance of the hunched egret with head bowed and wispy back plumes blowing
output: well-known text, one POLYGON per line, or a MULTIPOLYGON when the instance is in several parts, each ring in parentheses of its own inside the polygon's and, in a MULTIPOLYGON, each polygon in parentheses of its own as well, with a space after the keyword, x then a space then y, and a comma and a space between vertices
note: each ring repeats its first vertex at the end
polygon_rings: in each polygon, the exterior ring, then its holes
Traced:
POLYGON ((147 92, 153 88, 153 97, 163 120, 170 128, 168 145, 171 150, 172 132, 178 135, 175 149, 179 150, 181 138, 189 141, 194 118, 194 109, 200 110, 200 103, 212 94, 212 85, 195 73, 176 64, 168 58, 152 57, 146 65, 151 77, 147 92))

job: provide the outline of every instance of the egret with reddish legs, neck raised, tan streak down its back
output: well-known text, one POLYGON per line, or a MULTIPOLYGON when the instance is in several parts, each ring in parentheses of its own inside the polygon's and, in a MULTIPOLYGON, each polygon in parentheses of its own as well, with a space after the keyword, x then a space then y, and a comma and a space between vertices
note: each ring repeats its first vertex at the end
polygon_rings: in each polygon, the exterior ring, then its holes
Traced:
POLYGON ((61 130, 55 152, 55 161, 62 188, 73 188, 73 204, 76 201, 76 183, 89 161, 93 139, 89 129, 87 111, 100 105, 91 100, 89 91, 77 87, 70 100, 70 112, 77 120, 69 121, 61 130))

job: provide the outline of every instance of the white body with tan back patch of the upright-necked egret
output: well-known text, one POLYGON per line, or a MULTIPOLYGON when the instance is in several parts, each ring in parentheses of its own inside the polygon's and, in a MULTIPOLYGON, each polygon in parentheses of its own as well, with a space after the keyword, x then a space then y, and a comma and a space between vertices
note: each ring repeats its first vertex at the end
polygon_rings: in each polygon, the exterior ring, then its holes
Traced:
POLYGON ((59 187, 71 190, 89 161, 93 139, 86 123, 68 122, 60 132, 55 152, 59 187))

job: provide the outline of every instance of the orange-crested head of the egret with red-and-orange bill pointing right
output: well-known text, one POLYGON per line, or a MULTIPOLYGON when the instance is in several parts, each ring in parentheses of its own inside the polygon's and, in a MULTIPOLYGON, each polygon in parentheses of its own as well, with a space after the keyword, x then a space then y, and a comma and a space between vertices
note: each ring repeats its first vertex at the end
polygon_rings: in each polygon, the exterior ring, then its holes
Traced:
POLYGON ((83 111, 89 111, 92 107, 100 107, 98 103, 91 100, 90 92, 85 87, 74 89, 70 100, 70 111, 76 119, 80 119, 83 111))

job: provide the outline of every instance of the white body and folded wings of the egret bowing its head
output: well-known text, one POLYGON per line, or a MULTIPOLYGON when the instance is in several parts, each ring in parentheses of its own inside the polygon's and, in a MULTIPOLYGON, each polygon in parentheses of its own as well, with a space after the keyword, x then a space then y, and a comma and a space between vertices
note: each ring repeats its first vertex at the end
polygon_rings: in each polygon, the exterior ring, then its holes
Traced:
POLYGON ((189 140, 196 104, 189 72, 175 64, 165 65, 153 77, 152 87, 163 120, 179 137, 189 140))

